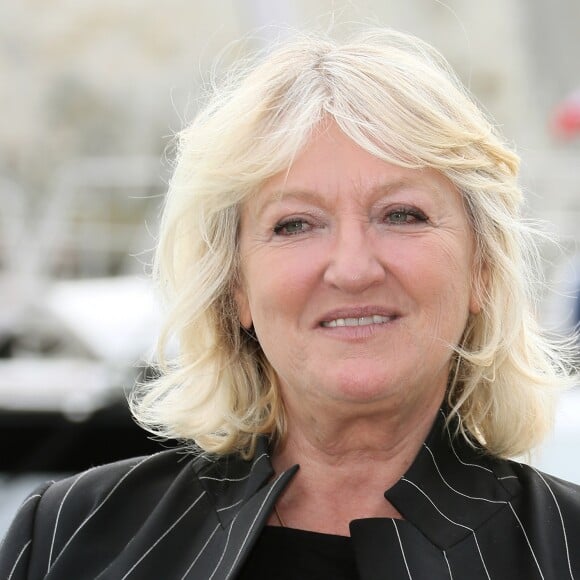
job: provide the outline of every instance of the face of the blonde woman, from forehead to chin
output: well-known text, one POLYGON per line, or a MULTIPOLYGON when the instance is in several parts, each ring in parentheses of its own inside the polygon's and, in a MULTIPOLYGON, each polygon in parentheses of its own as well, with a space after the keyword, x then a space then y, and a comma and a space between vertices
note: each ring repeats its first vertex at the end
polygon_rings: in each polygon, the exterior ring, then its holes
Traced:
POLYGON ((471 230, 444 176, 331 124, 245 202, 240 247, 240 320, 287 408, 441 402, 450 345, 478 310, 471 230))

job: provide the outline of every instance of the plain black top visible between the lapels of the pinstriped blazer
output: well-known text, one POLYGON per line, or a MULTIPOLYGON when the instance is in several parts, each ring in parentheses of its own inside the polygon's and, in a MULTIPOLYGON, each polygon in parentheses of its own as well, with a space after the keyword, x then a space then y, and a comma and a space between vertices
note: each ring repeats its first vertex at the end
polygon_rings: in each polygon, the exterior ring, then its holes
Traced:
POLYGON ((358 580, 351 539, 266 526, 238 580, 358 580))

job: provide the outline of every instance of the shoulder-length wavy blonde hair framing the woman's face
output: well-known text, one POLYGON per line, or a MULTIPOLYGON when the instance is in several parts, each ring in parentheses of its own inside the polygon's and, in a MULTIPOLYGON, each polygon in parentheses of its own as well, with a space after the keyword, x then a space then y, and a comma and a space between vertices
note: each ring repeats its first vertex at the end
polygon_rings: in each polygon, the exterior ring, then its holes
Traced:
POLYGON ((169 307, 160 376, 131 400, 137 420, 210 453, 283 438, 276 373, 234 301, 242 202, 285 170, 325 118, 378 158, 431 167, 462 193, 476 238, 482 310, 455 349, 448 404, 460 430, 499 456, 551 425, 568 361, 536 325, 534 231, 521 218, 519 159, 445 59, 418 38, 370 30, 339 43, 297 34, 230 71, 179 136, 155 260, 169 307), (178 354, 166 360, 170 337, 178 354))

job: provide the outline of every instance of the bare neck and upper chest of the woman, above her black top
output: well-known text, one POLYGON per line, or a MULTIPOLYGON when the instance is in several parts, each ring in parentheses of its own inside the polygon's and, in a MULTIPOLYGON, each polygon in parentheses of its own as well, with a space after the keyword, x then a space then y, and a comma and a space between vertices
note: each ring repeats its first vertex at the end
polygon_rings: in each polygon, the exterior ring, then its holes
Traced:
POLYGON ((408 409, 288 413, 287 437, 274 453, 277 472, 300 470, 278 502, 286 525, 349 535, 353 519, 401 515, 384 492, 407 471, 441 401, 408 409), (321 417, 323 418, 321 420, 321 417))

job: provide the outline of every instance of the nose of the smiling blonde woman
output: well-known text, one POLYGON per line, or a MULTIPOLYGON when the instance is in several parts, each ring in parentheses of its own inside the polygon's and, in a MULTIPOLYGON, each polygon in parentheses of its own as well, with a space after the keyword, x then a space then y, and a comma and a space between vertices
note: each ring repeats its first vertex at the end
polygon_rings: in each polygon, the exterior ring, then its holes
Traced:
POLYGON ((377 244, 368 224, 353 223, 339 228, 329 252, 324 281, 351 294, 384 281, 386 270, 377 244))

